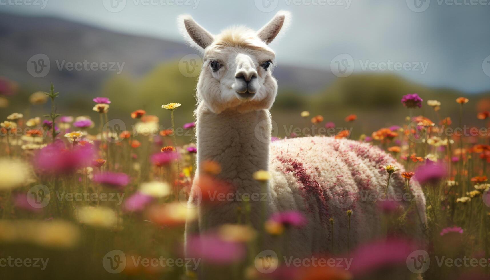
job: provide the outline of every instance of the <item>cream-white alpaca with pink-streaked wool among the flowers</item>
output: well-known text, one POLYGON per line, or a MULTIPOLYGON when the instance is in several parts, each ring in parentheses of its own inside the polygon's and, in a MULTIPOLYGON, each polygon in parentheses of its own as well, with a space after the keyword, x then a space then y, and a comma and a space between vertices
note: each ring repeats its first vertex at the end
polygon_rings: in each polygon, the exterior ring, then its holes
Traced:
MULTIPOLYGON (((276 64, 270 42, 290 23, 289 12, 280 11, 255 32, 244 26, 213 35, 189 15, 178 18, 188 42, 203 51, 202 71, 197 82, 196 179, 203 174, 202 163, 218 162, 218 178, 230 182, 235 193, 267 193, 266 216, 281 211, 299 211, 307 219, 302 228, 290 228, 283 238, 268 238, 263 249, 281 248, 281 254, 307 257, 315 253, 343 253, 383 234, 380 202, 388 174, 382 166, 403 167, 393 157, 368 143, 315 136, 278 140, 271 143, 270 107, 277 93, 272 76, 276 64), (270 172, 264 190, 253 179, 258 170, 270 172), (350 235, 346 211, 352 210, 350 235), (334 221, 333 236, 330 218, 334 221), (332 248, 333 244, 333 248, 332 248)), ((388 195, 405 193, 400 172, 392 174, 388 195)), ((199 186, 194 185, 194 188, 199 186)), ((412 180, 415 211, 407 228, 422 238, 427 223, 425 198, 412 180)), ((199 202, 191 191, 188 203, 199 202)), ((262 228, 260 201, 250 201, 250 220, 262 228)), ((404 202, 404 207, 410 202, 404 202)), ((199 205, 197 221, 186 224, 186 239, 208 229, 237 223, 238 201, 199 205)), ((386 231, 386 230, 385 230, 386 231)))

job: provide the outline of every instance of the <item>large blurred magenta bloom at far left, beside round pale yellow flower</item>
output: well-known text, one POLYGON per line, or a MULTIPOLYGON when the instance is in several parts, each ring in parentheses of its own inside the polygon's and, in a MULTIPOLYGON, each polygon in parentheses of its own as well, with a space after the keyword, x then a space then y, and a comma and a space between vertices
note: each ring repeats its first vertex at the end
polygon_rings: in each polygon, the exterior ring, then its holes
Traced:
POLYGON ((68 175, 91 166, 96 158, 92 145, 66 149, 61 142, 50 144, 34 156, 33 165, 39 173, 68 175))

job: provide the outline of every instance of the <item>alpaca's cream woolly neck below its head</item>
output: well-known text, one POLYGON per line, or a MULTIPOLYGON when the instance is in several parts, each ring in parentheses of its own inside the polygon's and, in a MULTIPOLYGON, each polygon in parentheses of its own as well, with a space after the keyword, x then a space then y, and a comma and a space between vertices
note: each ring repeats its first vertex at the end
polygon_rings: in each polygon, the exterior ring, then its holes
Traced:
POLYGON ((232 182, 240 191, 259 191, 254 172, 269 169, 270 114, 268 110, 239 113, 197 108, 197 174, 202 162, 221 165, 219 178, 232 182))

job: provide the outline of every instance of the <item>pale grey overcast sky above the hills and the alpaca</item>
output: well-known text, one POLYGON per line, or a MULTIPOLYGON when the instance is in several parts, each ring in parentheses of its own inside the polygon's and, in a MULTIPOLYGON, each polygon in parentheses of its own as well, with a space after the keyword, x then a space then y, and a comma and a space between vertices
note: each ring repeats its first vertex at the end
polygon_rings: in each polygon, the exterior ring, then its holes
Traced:
POLYGON ((258 29, 280 9, 293 23, 272 43, 279 63, 490 90, 490 0, 0 0, 2 11, 176 41, 182 13, 218 33, 234 24, 258 29))

